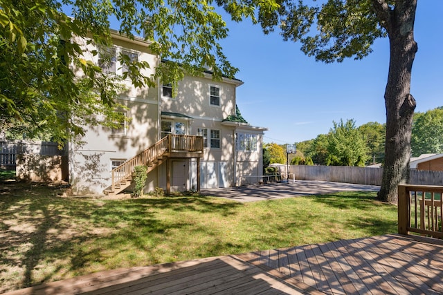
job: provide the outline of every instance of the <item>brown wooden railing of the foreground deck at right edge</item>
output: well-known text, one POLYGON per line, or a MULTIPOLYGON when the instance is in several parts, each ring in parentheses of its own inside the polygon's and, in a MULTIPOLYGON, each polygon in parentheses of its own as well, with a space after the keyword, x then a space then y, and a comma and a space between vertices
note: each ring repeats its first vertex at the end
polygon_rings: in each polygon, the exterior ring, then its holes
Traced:
POLYGON ((443 187, 399 185, 399 234, 443 238, 443 187))

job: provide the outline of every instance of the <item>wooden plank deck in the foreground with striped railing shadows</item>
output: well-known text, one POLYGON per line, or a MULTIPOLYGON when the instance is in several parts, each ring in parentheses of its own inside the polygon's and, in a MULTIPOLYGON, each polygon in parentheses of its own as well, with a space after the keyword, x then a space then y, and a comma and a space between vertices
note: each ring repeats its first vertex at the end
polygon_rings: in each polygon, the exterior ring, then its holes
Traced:
POLYGON ((386 235, 70 278, 12 294, 443 294, 443 242, 386 235))

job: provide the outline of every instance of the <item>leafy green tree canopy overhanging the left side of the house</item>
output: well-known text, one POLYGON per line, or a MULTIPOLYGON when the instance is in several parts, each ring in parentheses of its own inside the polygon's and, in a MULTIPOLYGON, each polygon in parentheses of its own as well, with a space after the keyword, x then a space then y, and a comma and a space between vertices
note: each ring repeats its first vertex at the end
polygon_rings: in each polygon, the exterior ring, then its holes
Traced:
POLYGON ((219 45, 228 28, 213 3, 235 21, 249 17, 256 22, 257 8, 270 12, 278 7, 273 0, 0 0, 0 129, 19 120, 63 143, 82 135, 85 124, 118 126, 124 120, 114 114, 120 107, 115 99, 122 78, 132 79, 137 87, 152 87, 158 78, 176 83, 183 73, 202 75, 207 67, 214 79, 233 77, 237 68, 219 45), (129 68, 120 78, 105 75, 84 59, 88 55, 82 51, 81 38, 98 46, 112 45, 111 18, 120 23, 118 32, 129 38, 143 34, 152 41, 152 53, 168 60, 156 68, 156 75, 142 74, 156 65, 131 61, 127 55, 118 57, 129 68), (74 68, 84 76, 75 75, 74 68), (95 120, 94 115, 105 120, 95 120))

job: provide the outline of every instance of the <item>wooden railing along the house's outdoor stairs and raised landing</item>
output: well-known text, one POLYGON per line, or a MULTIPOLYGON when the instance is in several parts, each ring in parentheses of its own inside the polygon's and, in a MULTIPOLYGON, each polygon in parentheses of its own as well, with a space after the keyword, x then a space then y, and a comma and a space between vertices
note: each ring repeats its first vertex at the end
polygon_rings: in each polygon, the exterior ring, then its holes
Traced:
POLYGON ((118 184, 126 182, 134 172, 136 166, 152 166, 165 153, 168 152, 203 152, 203 137, 194 135, 168 135, 159 142, 145 149, 134 158, 127 160, 120 166, 112 169, 112 191, 118 184))

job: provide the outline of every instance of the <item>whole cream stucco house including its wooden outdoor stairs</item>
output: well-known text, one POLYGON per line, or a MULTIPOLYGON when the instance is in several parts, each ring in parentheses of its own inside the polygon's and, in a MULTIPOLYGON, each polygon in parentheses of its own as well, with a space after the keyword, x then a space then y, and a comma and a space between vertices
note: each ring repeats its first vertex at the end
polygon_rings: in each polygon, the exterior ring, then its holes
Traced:
MULTIPOLYGON (((107 54, 159 65, 143 39, 113 33, 107 54)), ((118 59, 104 66, 99 54, 84 56, 110 74, 121 75, 118 59)), ((151 66, 145 75, 154 73, 151 66)), ((156 87, 120 94, 130 122, 118 130, 89 128, 82 145, 69 145, 69 182, 74 193, 118 193, 129 186, 134 166, 148 167, 145 191, 189 191, 239 185, 243 175, 262 175, 262 136, 266 128, 251 126, 237 108, 238 79, 214 81, 186 75, 177 91, 160 81, 156 87), (177 94, 176 94, 177 93, 177 94)), ((116 110, 122 111, 122 110, 116 110)))

